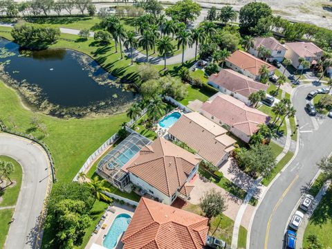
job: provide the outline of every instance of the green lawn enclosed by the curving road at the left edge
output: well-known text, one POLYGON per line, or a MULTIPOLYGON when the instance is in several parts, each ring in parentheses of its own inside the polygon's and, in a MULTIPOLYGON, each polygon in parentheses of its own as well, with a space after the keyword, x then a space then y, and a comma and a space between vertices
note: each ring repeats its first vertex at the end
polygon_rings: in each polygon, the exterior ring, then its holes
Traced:
POLYGON ((0 196, 3 198, 0 202, 0 207, 15 205, 17 198, 19 197, 19 190, 21 189, 22 167, 16 160, 8 156, 0 156, 0 160, 4 162, 11 162, 14 165, 14 172, 10 175, 10 179, 16 182, 14 187, 10 187, 10 182, 8 181, 8 187, 0 191, 0 196))

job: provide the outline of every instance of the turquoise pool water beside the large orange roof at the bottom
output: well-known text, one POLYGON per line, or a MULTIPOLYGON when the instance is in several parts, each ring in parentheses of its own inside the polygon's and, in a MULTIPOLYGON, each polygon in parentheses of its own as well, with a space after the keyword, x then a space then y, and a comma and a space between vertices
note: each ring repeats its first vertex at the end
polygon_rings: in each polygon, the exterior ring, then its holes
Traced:
POLYGON ((113 249, 118 242, 119 237, 125 232, 128 228, 128 225, 131 221, 131 216, 129 214, 119 214, 114 219, 109 232, 107 232, 102 245, 105 248, 113 249))

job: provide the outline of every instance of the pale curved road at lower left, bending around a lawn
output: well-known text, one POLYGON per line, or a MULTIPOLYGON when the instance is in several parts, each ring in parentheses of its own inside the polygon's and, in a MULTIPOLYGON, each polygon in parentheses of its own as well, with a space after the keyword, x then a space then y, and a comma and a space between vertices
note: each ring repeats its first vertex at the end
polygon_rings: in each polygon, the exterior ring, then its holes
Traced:
POLYGON ((23 169, 21 192, 10 225, 5 248, 39 248, 46 191, 51 176, 45 151, 29 140, 0 133, 0 155, 17 160, 23 169))

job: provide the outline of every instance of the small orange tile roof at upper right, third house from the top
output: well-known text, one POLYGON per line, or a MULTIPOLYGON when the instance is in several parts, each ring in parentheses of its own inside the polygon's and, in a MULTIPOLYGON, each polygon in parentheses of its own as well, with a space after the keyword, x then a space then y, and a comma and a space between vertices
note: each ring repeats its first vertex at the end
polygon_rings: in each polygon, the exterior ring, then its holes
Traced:
POLYGON ((236 50, 234 53, 232 53, 232 55, 230 55, 230 57, 226 59, 226 61, 234 64, 238 68, 252 73, 253 75, 259 75, 259 68, 261 68, 261 65, 266 65, 269 71, 276 69, 274 66, 268 64, 267 62, 264 62, 263 60, 258 59, 255 56, 241 50, 236 50))

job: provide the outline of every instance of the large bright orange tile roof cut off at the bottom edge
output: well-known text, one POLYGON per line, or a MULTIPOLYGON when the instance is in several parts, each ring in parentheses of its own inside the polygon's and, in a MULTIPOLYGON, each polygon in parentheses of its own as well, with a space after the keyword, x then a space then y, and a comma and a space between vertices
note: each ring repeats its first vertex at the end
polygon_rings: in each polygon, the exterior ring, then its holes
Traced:
POLYGON ((208 218, 142 198, 127 231, 123 249, 201 249, 208 218))

